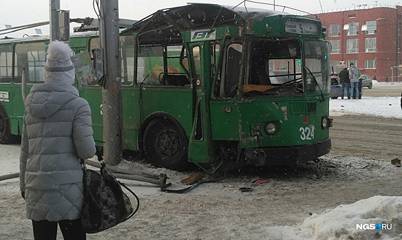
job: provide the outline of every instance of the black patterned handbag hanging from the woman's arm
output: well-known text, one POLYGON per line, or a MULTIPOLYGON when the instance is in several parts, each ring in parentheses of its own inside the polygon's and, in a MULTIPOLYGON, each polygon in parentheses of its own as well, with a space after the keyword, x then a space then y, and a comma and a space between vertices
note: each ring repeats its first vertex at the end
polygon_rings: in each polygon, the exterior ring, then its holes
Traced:
POLYGON ((137 195, 121 183, 102 163, 100 173, 87 169, 84 161, 84 202, 81 209, 81 223, 87 233, 96 233, 126 221, 132 217, 140 202, 137 195), (131 200, 120 186, 134 195, 137 207, 134 210, 131 200))

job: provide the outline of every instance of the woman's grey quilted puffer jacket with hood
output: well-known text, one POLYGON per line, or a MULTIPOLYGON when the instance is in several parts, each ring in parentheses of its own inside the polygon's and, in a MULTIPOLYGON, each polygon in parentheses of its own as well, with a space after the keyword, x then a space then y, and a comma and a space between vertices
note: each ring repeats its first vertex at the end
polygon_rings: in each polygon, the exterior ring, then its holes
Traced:
POLYGON ((96 152, 91 110, 69 84, 36 84, 25 100, 20 189, 28 219, 81 216, 83 169, 79 158, 96 152))

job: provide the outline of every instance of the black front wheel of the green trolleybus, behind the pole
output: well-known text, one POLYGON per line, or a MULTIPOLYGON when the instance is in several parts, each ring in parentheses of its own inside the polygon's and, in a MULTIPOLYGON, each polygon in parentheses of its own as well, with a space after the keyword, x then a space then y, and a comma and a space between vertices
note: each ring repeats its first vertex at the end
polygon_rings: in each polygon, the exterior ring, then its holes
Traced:
POLYGON ((180 125, 167 119, 154 119, 147 125, 142 143, 145 157, 157 167, 176 171, 190 169, 189 140, 180 125))

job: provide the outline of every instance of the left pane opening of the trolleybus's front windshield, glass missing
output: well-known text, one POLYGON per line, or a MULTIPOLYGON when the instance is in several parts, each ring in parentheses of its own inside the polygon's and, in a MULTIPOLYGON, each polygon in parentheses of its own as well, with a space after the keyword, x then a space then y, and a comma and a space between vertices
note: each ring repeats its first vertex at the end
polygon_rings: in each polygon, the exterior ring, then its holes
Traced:
POLYGON ((304 92, 298 40, 252 39, 247 47, 248 67, 243 84, 246 95, 300 95, 304 92))

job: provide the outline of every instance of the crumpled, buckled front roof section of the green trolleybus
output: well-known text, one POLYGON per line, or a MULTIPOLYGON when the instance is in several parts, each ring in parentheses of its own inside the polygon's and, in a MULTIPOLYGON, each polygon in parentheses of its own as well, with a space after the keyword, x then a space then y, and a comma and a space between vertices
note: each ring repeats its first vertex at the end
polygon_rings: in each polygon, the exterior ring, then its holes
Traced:
POLYGON ((140 40, 180 38, 180 32, 189 29, 212 28, 223 25, 245 25, 253 19, 272 15, 290 15, 260 8, 230 7, 209 3, 189 3, 176 8, 158 10, 125 29, 122 34, 140 32, 140 40), (169 34, 169 36, 167 36, 169 34))

